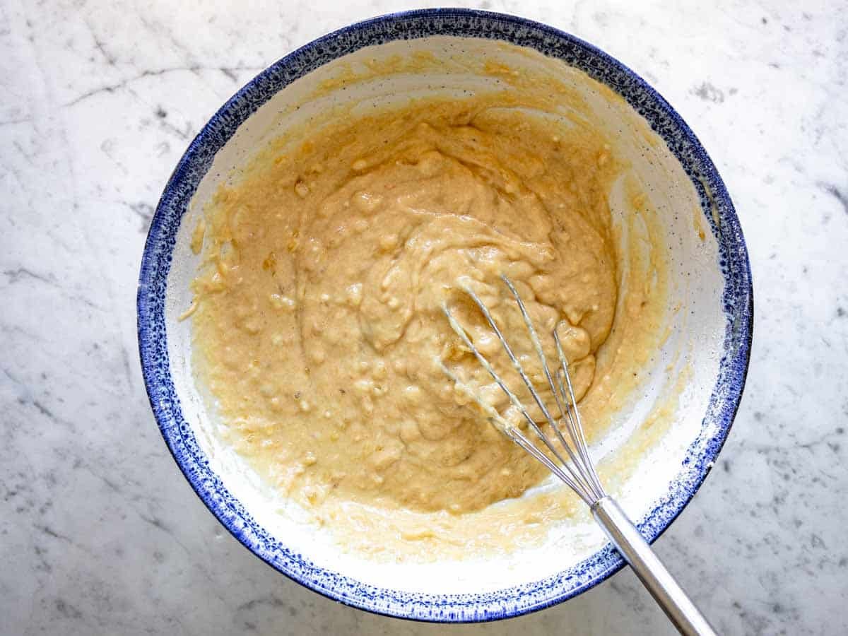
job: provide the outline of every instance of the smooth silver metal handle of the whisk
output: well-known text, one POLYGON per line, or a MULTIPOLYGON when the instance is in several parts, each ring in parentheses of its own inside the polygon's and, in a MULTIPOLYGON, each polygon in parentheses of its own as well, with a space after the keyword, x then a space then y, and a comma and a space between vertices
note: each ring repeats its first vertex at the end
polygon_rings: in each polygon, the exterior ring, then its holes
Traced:
POLYGON ((615 499, 609 496, 599 499, 592 506, 592 515, 678 632, 684 636, 716 636, 615 499))

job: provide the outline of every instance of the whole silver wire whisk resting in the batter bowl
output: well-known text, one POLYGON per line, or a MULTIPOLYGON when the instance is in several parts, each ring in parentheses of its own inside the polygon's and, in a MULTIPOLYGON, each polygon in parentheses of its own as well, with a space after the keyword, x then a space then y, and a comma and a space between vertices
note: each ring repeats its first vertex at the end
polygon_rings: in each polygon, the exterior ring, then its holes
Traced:
POLYGON ((577 410, 577 399, 572 386, 571 375, 568 371, 568 360, 566 360, 560 336, 557 333, 557 326, 559 325, 554 327, 552 334, 559 364, 555 367, 555 371, 552 372, 547 356, 544 354, 542 341, 533 326, 533 321, 527 312, 527 307, 522 301, 515 285, 507 276, 501 276, 501 279, 506 287, 509 288, 512 297, 515 298, 518 304, 518 310, 521 312, 522 319, 527 326, 527 333, 541 363, 544 379, 548 384, 548 388, 550 388, 550 393, 553 395, 556 409, 553 414, 551 414, 548 405, 545 404, 544 399, 542 399, 538 390, 533 385, 524 365, 522 365, 521 360, 519 360, 515 351, 510 347, 510 343, 507 342, 486 304, 477 296, 477 293, 474 293, 471 287, 460 284, 460 290, 466 293, 474 304, 477 305, 477 308, 488 322, 488 326, 492 328, 495 336, 503 346, 513 369, 521 377, 533 402, 542 413, 541 419, 543 422, 541 426, 536 421, 537 418, 533 417, 529 410, 527 410, 527 405, 522 403, 522 400, 517 397, 516 393, 510 390, 504 378, 494 369, 494 366, 475 345, 465 328, 456 320, 448 304, 443 305, 443 310, 451 328, 460 337, 466 348, 471 351, 471 354, 474 354, 477 361, 483 365, 483 368, 488 371, 494 382, 505 393, 510 404, 527 421, 529 431, 532 431, 535 437, 538 438, 541 447, 533 444, 531 439, 522 431, 521 427, 508 421, 492 404, 485 401, 477 391, 469 387, 454 371, 451 371, 447 365, 444 365, 444 362, 439 360, 443 371, 448 374, 458 388, 462 388, 474 400, 495 427, 521 446, 522 449, 526 450, 527 453, 533 455, 536 460, 544 464, 556 477, 566 483, 569 488, 572 488, 580 499, 583 499, 592 511, 595 521, 603 528, 612 544, 616 546, 616 549, 624 560, 633 568, 633 571, 642 583, 644 583, 645 588, 648 589, 662 610, 666 612, 668 618, 678 628, 680 633, 686 634, 686 636, 714 635, 715 631, 711 628, 710 623, 707 622, 706 618, 689 599, 689 596, 683 592, 683 589, 674 577, 672 577, 671 573, 667 571, 654 551, 651 550, 650 544, 645 541, 621 506, 609 494, 606 494, 604 487, 601 485, 598 474, 594 469, 594 464, 589 457, 589 449, 583 432, 583 421, 581 421, 580 412, 577 410), (550 427, 553 435, 544 431, 544 424, 550 427), (566 434, 563 434, 563 428, 565 428, 566 434), (547 452, 545 452, 545 449, 547 452))

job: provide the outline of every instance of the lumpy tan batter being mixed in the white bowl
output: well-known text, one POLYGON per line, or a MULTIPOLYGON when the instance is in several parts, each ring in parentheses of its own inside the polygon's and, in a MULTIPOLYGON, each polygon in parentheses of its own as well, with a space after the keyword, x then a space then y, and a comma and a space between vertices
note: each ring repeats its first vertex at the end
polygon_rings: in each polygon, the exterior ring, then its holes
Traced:
POLYGON ((220 187, 194 237, 198 372, 226 438, 321 522, 343 508, 359 528, 391 517, 405 539, 461 537, 547 471, 445 375, 516 417, 442 307, 505 370, 459 289, 473 288, 542 386, 510 276, 539 332, 561 322, 585 419, 602 420, 611 370, 633 356, 623 341, 599 349, 614 321, 634 332, 644 305, 618 303, 607 193, 621 166, 589 128, 498 96, 413 103, 281 148, 220 187))

